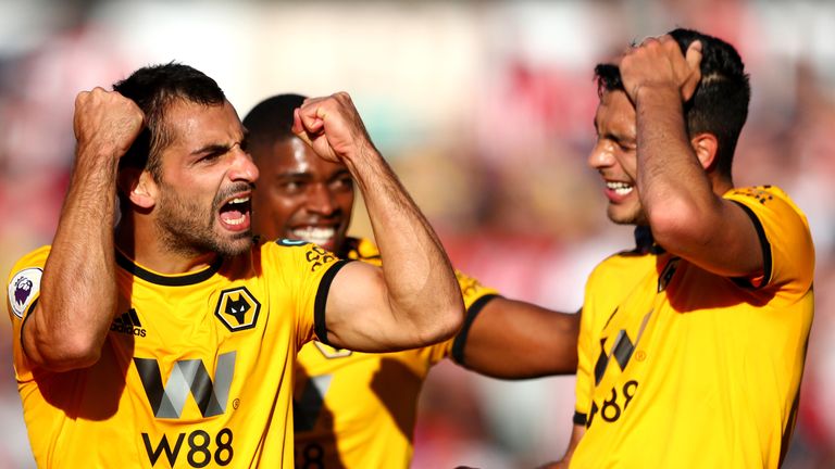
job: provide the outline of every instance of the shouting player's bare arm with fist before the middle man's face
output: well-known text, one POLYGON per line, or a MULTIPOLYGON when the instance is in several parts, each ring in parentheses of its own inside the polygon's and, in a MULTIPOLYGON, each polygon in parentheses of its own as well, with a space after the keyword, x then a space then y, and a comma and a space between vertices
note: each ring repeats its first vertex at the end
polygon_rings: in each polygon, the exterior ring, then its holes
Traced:
POLYGON ((383 267, 346 265, 333 280, 326 338, 365 352, 412 348, 456 333, 461 292, 437 236, 374 148, 347 93, 309 99, 294 131, 325 160, 344 163, 362 192, 383 267))

